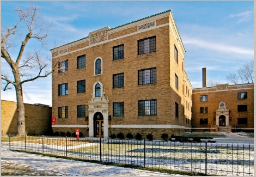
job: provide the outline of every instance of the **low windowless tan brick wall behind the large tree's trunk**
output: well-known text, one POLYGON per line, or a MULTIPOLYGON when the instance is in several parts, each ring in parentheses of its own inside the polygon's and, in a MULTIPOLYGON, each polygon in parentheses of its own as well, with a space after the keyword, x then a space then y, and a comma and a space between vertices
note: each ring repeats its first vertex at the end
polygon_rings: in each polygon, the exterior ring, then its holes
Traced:
MULTIPOLYGON (((1 100, 1 131, 17 133, 17 103, 1 100)), ((42 135, 51 130, 51 107, 25 103, 25 120, 28 134, 42 135)))

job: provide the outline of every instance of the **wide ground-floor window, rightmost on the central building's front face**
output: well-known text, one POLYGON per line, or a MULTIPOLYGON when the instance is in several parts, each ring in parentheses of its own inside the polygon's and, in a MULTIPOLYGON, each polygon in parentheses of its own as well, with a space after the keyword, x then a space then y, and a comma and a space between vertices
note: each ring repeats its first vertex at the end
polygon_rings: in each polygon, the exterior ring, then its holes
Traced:
POLYGON ((139 101, 139 115, 156 115, 156 100, 139 101))

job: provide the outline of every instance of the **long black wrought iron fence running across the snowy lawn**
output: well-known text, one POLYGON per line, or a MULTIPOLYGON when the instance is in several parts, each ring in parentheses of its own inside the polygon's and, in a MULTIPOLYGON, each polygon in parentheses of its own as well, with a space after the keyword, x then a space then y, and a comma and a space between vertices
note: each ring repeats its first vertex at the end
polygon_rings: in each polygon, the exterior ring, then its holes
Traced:
POLYGON ((254 175, 252 144, 10 135, 9 149, 206 175, 254 175))

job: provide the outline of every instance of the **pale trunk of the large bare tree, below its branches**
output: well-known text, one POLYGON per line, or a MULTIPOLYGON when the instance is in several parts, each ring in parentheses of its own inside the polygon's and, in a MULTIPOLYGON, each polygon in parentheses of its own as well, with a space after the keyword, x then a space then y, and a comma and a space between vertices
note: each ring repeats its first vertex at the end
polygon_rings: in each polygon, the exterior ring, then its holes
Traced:
POLYGON ((17 135, 26 135, 25 106, 21 85, 15 87, 17 95, 17 135))

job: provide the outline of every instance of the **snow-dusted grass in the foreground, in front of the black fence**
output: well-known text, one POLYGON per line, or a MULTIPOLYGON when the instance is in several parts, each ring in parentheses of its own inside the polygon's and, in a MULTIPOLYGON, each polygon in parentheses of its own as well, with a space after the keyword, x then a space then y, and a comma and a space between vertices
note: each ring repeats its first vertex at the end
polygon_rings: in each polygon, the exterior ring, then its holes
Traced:
POLYGON ((181 176, 150 172, 147 170, 105 166, 89 162, 80 162, 14 152, 8 150, 8 143, 1 143, 1 174, 2 175, 51 175, 51 176, 181 176))

